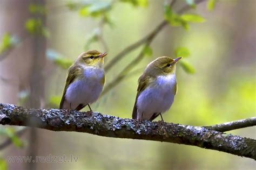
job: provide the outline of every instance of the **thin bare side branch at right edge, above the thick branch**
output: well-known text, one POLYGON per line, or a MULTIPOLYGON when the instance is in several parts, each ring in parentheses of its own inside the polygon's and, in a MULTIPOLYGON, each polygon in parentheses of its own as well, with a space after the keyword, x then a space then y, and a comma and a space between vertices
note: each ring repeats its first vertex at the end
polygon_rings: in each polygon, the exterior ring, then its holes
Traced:
POLYGON ((235 129, 247 128, 251 126, 256 126, 256 117, 242 119, 234 122, 226 122, 226 123, 217 124, 213 126, 205 126, 205 128, 219 131, 219 132, 226 132, 226 131, 235 130, 235 129))

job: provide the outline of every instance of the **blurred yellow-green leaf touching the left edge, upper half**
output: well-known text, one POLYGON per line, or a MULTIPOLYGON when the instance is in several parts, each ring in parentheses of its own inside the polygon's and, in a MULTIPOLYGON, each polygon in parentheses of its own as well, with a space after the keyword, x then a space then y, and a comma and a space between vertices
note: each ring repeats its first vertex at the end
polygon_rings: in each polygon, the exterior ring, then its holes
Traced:
POLYGON ((19 42, 19 39, 9 33, 5 33, 0 44, 0 54, 7 51, 19 42))

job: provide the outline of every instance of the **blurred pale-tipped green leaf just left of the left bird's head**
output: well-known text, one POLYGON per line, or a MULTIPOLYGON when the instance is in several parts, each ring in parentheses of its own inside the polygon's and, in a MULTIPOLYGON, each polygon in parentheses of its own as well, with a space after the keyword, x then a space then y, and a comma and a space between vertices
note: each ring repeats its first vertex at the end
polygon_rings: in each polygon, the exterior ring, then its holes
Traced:
POLYGON ((73 63, 72 60, 64 58, 61 54, 54 51, 53 49, 47 49, 46 57, 63 69, 68 69, 73 63))

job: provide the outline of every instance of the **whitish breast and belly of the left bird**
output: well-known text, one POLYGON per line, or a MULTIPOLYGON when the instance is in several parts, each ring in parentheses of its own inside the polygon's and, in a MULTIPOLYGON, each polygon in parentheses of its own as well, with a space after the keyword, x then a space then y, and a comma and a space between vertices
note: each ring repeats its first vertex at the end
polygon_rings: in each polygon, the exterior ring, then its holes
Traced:
POLYGON ((75 109, 79 104, 95 102, 102 93, 104 70, 89 67, 84 70, 84 79, 77 80, 70 84, 66 90, 65 98, 71 103, 71 109, 75 109))

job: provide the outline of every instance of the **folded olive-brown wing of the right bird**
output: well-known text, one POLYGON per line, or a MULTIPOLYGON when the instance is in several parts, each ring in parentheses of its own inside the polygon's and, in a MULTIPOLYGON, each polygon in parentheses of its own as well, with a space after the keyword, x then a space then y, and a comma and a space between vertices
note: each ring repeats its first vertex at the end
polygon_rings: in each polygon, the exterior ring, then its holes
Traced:
POLYGON ((132 118, 136 119, 137 118, 137 99, 140 93, 142 93, 143 90, 146 89, 147 86, 149 86, 149 82, 150 82, 150 76, 145 76, 142 75, 139 77, 139 85, 138 85, 138 89, 137 89, 137 95, 136 95, 136 99, 135 99, 135 103, 134 103, 134 107, 133 107, 133 111, 132 111, 132 118))

